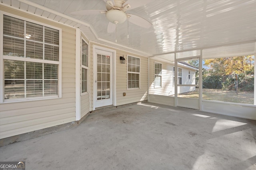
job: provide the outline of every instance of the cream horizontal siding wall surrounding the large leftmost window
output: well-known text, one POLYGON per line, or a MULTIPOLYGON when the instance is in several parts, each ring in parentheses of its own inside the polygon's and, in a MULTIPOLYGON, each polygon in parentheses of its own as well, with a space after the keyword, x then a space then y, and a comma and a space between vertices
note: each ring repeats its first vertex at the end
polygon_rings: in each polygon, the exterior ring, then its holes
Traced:
POLYGON ((62 29, 62 98, 1 103, 0 138, 75 121, 76 30, 5 6, 1 10, 62 29))

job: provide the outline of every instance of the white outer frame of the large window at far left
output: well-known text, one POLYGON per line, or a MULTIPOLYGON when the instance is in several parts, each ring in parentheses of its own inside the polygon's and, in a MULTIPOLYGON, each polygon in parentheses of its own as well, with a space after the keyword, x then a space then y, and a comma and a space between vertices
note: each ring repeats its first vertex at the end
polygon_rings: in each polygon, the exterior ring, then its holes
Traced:
MULTIPOLYGON (((24 42, 26 41, 26 38, 22 39, 24 42)), ((37 101, 37 100, 44 100, 44 99, 56 99, 62 97, 62 29, 51 26, 48 24, 44 24, 42 22, 38 22, 35 20, 31 20, 28 18, 24 18, 21 16, 17 16, 14 14, 10 14, 8 12, 0 11, 0 103, 14 103, 14 102, 22 102, 22 101, 37 101), (26 22, 31 22, 34 24, 38 24, 44 27, 52 28, 59 31, 59 61, 51 61, 51 60, 44 60, 44 59, 33 59, 33 58, 25 58, 25 57, 16 57, 16 56, 8 56, 3 55, 3 23, 4 23, 4 15, 10 16, 13 18, 18 18, 20 20, 24 20, 24 26, 26 22), (29 98, 18 98, 18 99, 4 99, 4 59, 7 60, 15 60, 15 61, 27 61, 27 62, 34 62, 34 63, 46 63, 46 64, 56 64, 58 65, 58 95, 54 96, 43 96, 43 97, 29 97, 29 98)), ((26 45, 24 44, 24 50, 26 45)), ((26 79, 24 79, 26 81, 26 79)), ((25 85, 25 84, 24 84, 25 85)))

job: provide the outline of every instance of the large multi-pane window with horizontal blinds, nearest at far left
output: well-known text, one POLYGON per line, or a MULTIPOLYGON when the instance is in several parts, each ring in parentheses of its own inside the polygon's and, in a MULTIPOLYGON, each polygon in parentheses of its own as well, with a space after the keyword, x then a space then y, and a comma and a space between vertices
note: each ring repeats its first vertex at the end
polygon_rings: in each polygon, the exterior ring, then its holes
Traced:
POLYGON ((59 30, 3 15, 1 36, 4 100, 58 97, 59 30))

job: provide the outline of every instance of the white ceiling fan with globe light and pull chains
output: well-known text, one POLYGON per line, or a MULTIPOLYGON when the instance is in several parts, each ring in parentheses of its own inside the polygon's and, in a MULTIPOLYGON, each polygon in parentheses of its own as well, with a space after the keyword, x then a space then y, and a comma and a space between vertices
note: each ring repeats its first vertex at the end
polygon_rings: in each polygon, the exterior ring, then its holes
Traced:
MULTIPOLYGON (((142 6, 149 0, 104 0, 106 2, 106 10, 80 10, 70 12, 72 15, 94 15, 94 14, 106 14, 106 18, 110 21, 108 23, 108 33, 112 33, 116 30, 117 24, 122 24, 126 20, 143 28, 150 28, 152 24, 141 18, 140 16, 126 13, 127 10, 131 10, 142 6)), ((128 24, 129 26, 129 24, 128 24)))

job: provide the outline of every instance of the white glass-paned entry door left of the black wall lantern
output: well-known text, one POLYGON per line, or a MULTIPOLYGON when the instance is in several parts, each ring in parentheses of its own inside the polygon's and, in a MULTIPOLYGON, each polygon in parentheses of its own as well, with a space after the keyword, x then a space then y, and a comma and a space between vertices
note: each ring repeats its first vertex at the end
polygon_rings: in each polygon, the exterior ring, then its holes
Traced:
POLYGON ((94 51, 94 108, 113 105, 113 53, 94 51))

